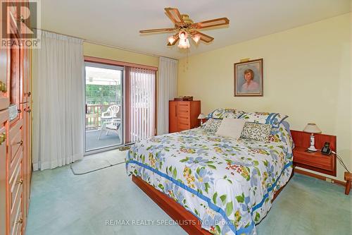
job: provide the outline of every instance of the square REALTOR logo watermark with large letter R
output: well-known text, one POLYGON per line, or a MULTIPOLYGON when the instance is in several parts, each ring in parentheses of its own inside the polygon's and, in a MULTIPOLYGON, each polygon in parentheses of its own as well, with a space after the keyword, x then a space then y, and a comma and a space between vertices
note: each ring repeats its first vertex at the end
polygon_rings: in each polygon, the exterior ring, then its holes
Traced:
POLYGON ((40 2, 1 1, 1 48, 40 48, 40 2))

